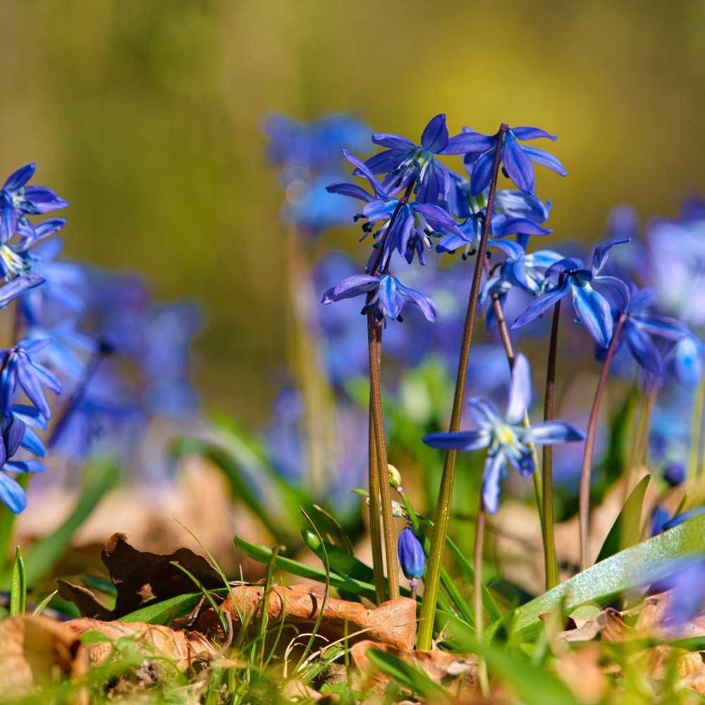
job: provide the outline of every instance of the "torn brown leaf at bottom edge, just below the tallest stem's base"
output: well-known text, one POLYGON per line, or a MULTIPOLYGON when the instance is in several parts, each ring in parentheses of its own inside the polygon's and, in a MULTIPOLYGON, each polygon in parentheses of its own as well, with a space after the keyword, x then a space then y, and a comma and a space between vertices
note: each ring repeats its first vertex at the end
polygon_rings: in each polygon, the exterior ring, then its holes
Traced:
POLYGON ((376 649, 396 656, 402 661, 420 668, 431 680, 448 690, 453 702, 474 699, 477 690, 477 657, 448 654, 447 651, 413 651, 397 649, 388 644, 376 644, 369 639, 358 642, 350 649, 350 661, 357 671, 355 687, 362 692, 382 692, 389 678, 381 673, 367 658, 367 650, 376 649))

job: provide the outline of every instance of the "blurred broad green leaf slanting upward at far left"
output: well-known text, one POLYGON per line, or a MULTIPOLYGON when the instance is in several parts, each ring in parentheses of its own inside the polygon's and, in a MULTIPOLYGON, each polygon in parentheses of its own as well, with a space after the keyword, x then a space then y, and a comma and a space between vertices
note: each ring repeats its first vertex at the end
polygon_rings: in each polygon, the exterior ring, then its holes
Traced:
POLYGON ((31 585, 40 577, 49 574, 59 556, 71 545, 71 538, 76 530, 91 515, 106 493, 116 486, 118 467, 112 459, 92 460, 86 465, 84 476, 85 486, 73 512, 56 531, 39 539, 27 553, 27 584, 31 585))

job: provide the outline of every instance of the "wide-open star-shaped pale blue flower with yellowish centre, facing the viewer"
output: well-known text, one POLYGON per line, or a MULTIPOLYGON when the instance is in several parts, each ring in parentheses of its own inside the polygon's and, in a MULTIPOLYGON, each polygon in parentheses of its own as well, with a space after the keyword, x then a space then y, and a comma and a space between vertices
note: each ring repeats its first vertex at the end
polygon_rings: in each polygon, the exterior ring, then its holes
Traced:
POLYGON ((432 448, 445 450, 488 448, 482 474, 482 499, 490 514, 498 509, 500 484, 508 464, 524 477, 534 472, 530 444, 553 445, 583 441, 586 438, 577 426, 565 421, 546 421, 529 429, 523 427, 525 411, 531 405, 531 391, 529 361, 520 353, 514 363, 509 402, 504 416, 489 399, 475 397, 470 399, 470 411, 479 429, 429 434, 422 439, 432 448))

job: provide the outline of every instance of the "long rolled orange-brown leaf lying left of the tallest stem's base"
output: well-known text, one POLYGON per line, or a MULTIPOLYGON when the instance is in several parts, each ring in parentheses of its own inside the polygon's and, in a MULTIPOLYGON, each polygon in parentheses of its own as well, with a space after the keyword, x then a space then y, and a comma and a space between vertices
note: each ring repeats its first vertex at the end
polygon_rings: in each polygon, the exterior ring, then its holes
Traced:
MULTIPOLYGON (((220 606, 233 618, 233 624, 240 622, 240 614, 259 615, 262 607, 264 588, 259 585, 235 587, 233 596, 228 595, 220 606)), ((271 589, 267 601, 267 618, 310 631, 316 623, 321 604, 323 617, 318 633, 333 641, 347 635, 350 642, 355 639, 372 639, 375 642, 391 644, 399 649, 411 649, 416 640, 416 601, 407 597, 382 603, 369 610, 359 602, 348 602, 328 597, 324 602, 324 592, 319 586, 293 585, 271 589), (358 634, 357 632, 363 632, 358 634)), ((220 620, 211 608, 205 611, 196 623, 196 629, 205 634, 218 630, 220 620)))

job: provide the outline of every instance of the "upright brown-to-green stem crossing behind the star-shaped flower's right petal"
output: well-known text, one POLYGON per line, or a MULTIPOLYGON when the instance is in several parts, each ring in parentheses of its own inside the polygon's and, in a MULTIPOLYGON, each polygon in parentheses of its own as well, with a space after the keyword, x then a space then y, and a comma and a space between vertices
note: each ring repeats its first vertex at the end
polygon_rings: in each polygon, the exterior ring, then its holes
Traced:
MULTIPOLYGON (((558 326, 560 324, 560 299, 553 306, 551 320, 551 341, 548 343, 548 363, 546 364, 546 394, 544 396, 544 421, 553 419, 553 397, 556 391, 556 354, 558 351, 558 326)), ((544 537, 544 568, 546 590, 558 584, 558 564, 556 563, 556 541, 553 538, 553 448, 546 444, 543 451, 542 489, 544 510, 541 513, 541 533, 544 537)))

